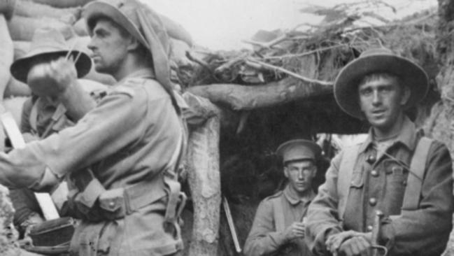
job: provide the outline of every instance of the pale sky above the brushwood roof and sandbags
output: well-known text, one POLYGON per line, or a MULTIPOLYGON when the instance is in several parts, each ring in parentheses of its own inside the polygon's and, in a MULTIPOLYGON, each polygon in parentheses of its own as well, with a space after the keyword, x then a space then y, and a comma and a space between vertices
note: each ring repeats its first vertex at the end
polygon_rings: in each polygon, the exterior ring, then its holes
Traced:
MULTIPOLYGON (((197 45, 211 50, 249 48, 243 40, 259 29, 291 29, 297 24, 320 22, 321 17, 301 13, 310 5, 334 6, 360 0, 141 0, 158 13, 183 25, 197 45)), ((364 1, 364 0, 363 0, 364 1)), ((369 0, 370 1, 370 0, 369 0)), ((437 0, 374 0, 390 3, 393 13, 373 10, 390 20, 437 6, 437 0)))

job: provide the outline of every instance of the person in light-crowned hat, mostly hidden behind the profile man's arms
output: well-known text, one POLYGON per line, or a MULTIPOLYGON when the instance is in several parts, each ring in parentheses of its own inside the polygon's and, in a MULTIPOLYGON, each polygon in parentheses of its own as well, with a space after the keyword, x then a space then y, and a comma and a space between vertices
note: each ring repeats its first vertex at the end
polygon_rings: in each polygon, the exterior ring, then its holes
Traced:
MULTIPOLYGON (((38 72, 39 65, 50 63, 69 54, 69 47, 63 35, 56 29, 37 29, 31 41, 30 50, 26 55, 16 59, 10 67, 11 74, 17 80, 27 83, 27 77, 38 72)), ((69 55, 76 60, 78 77, 85 76, 92 66, 90 57, 83 52, 72 50, 69 55)), ((29 81, 31 82, 31 81, 29 81)), ((64 106, 58 97, 58 92, 52 85, 29 83, 33 96, 24 102, 20 131, 26 141, 45 138, 50 134, 72 126, 83 115, 84 111, 94 107, 94 99, 85 97, 80 99, 78 110, 72 106, 64 106), (84 111, 80 111, 84 109, 84 111)), ((52 194, 59 210, 66 198, 63 190, 52 194)), ((41 208, 34 193, 27 189, 10 191, 11 201, 15 208, 14 224, 21 234, 32 224, 43 222, 41 208)), ((62 212, 64 215, 64 213, 62 212)))

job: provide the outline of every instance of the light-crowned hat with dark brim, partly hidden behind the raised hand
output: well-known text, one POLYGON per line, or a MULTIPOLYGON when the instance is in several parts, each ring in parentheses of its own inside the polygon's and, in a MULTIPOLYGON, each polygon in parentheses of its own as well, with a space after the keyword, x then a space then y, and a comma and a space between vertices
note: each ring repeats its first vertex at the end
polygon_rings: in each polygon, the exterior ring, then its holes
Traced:
MULTIPOLYGON (((57 29, 43 28, 36 29, 33 38, 31 38, 30 50, 26 55, 16 59, 10 66, 10 72, 14 78, 23 83, 27 83, 27 75, 31 69, 33 59, 55 56, 64 57, 68 54, 69 46, 64 40, 64 36, 57 29)), ((92 60, 84 52, 71 50, 73 59, 79 56, 76 62, 78 78, 82 78, 92 68, 92 60)))

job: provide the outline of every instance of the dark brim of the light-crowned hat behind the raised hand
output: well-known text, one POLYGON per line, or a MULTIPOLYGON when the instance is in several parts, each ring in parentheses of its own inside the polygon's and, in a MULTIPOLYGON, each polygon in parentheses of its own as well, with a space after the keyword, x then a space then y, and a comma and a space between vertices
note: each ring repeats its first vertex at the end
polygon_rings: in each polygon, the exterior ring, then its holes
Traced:
MULTIPOLYGON (((33 59, 38 59, 40 57, 45 57, 45 56, 55 56, 55 57, 65 57, 68 54, 68 51, 66 50, 60 50, 60 51, 55 51, 55 52, 43 52, 37 55, 26 55, 20 59, 16 59, 13 64, 10 66, 10 72, 11 75, 17 80, 20 80, 22 83, 27 83, 27 76, 28 73, 31 69, 31 64, 33 59)), ((79 56, 75 66, 76 66, 76 71, 77 71, 77 77, 78 78, 83 78, 87 73, 90 72, 92 69, 92 60, 88 55, 84 52, 80 52, 78 50, 72 50, 71 55, 73 56, 73 59, 76 59, 76 57, 79 56)))

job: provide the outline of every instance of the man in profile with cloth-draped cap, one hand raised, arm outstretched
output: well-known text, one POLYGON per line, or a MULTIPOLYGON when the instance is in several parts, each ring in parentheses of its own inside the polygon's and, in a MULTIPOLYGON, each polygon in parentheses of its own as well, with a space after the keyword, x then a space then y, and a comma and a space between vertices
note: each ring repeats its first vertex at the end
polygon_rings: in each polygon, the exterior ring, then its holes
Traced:
MULTIPOLYGON (((135 0, 93 1, 84 13, 95 69, 119 82, 73 127, 0 153, 0 183, 48 190, 69 176, 71 211, 82 219, 72 255, 175 255, 183 248, 176 171, 185 129, 169 82, 166 31, 135 0)), ((40 78, 62 101, 80 93, 66 59, 43 66, 40 78)))

